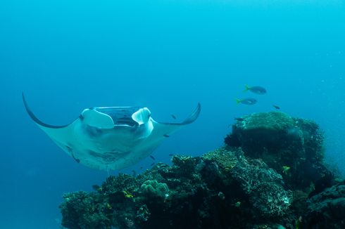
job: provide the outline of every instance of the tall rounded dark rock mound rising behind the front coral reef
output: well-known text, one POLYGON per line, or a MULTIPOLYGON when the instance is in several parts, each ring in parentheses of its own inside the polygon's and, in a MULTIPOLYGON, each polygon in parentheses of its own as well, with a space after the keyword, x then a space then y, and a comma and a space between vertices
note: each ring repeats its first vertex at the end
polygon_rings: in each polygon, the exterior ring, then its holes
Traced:
POLYGON ((237 120, 225 144, 241 148, 246 157, 263 159, 287 185, 307 191, 328 173, 322 164, 323 139, 318 124, 311 120, 267 112, 237 120))

